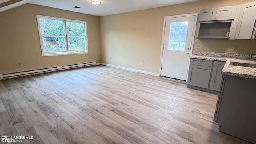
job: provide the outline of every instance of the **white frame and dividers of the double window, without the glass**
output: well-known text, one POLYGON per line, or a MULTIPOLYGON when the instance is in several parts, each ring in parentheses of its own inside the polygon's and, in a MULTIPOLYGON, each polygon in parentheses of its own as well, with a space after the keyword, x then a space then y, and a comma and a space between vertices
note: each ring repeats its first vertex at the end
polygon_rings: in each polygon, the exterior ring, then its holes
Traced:
MULTIPOLYGON (((36 15, 36 19, 37 19, 37 24, 38 24, 38 32, 39 32, 39 37, 40 37, 40 44, 41 44, 41 51, 42 51, 42 56, 63 56, 63 55, 71 55, 71 54, 88 54, 89 53, 89 48, 88 48, 88 36, 87 36, 87 23, 85 21, 80 21, 80 20, 71 20, 71 19, 66 19, 66 18, 56 18, 56 17, 51 17, 51 16, 42 16, 42 15, 36 15), (76 50, 69 50, 69 46, 68 46, 68 34, 67 34, 67 30, 66 30, 66 22, 78 22, 78 23, 84 23, 84 30, 85 30, 85 35, 81 35, 81 36, 85 36, 85 42, 86 42, 86 52, 80 52, 80 53, 67 53, 67 54, 50 54, 50 55, 44 55, 44 42, 43 42, 43 35, 41 34, 41 30, 40 30, 40 21, 39 18, 47 18, 47 19, 52 19, 52 20, 62 20, 64 23, 64 35, 54 35, 54 36, 59 36, 59 37, 65 37, 66 40, 66 51, 65 52, 69 52, 69 51, 76 51, 76 50)), ((50 36, 50 35, 49 35, 50 36)), ((73 36, 73 35, 71 35, 73 36)), ((61 51, 60 51, 61 52, 61 51)), ((62 51, 64 52, 64 51, 62 51)), ((48 52, 48 53, 52 53, 52 52, 48 52)))

